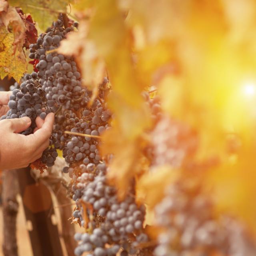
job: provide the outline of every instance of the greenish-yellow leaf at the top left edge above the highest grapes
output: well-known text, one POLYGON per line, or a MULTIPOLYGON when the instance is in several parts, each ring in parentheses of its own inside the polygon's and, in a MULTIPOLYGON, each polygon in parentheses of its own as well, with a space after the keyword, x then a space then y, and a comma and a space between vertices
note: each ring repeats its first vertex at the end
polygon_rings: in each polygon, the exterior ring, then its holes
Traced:
POLYGON ((22 8, 24 13, 30 13, 34 20, 38 22, 42 30, 46 30, 51 26, 52 22, 58 18, 60 12, 66 12, 66 6, 70 1, 68 0, 10 0, 8 1, 12 6, 22 8))

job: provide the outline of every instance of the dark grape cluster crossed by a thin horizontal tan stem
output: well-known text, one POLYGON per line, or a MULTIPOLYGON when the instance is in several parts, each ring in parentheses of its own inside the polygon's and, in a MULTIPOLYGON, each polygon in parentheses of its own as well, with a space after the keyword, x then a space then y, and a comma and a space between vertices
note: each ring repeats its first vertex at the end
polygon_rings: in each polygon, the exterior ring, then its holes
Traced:
MULTIPOLYGON (((98 136, 109 128, 109 120, 111 118, 111 113, 106 108, 106 103, 104 102, 104 96, 105 93, 102 91, 98 99, 95 99, 91 106, 83 108, 81 118, 76 117, 74 113, 66 113, 65 115, 65 130, 88 135, 68 136, 64 134, 63 137, 60 137, 60 140, 65 141, 63 157, 70 165, 70 172, 72 172, 74 166, 79 164, 98 164, 101 160, 98 150, 98 136)), ((91 94, 86 91, 84 97, 86 102, 89 102, 91 94)), ((65 168, 65 170, 67 169, 65 168)))

